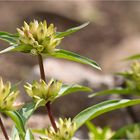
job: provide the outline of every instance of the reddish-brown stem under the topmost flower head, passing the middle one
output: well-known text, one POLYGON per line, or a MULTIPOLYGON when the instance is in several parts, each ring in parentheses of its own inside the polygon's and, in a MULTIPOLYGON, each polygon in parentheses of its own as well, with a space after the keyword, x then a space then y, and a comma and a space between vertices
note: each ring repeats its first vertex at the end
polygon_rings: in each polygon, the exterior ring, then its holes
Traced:
MULTIPOLYGON (((40 68, 40 75, 41 75, 41 79, 44 80, 46 82, 46 78, 45 78, 45 72, 44 72, 44 65, 43 65, 43 59, 41 54, 38 54, 38 63, 39 63, 39 68, 40 68)), ((51 111, 51 105, 50 102, 46 103, 46 108, 48 111, 48 115, 49 115, 49 119, 51 121, 51 124, 55 130, 55 132, 57 132, 57 126, 51 111)))

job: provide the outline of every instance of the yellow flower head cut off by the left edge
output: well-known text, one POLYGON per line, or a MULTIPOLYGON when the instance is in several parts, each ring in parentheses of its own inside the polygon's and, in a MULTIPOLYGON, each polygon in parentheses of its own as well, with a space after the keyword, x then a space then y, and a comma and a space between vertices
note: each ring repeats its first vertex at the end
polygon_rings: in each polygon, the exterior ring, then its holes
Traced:
POLYGON ((11 83, 3 83, 0 78, 0 110, 11 110, 14 109, 13 103, 19 94, 19 91, 11 91, 11 83))

